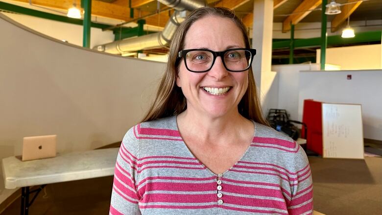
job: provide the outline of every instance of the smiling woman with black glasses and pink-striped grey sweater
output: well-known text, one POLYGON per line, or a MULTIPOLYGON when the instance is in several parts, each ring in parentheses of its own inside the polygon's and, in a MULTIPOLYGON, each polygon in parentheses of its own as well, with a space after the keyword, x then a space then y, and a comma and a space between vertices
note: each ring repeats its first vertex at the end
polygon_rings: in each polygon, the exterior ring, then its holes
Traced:
POLYGON ((171 42, 143 122, 123 138, 110 214, 311 214, 305 152, 267 126, 246 28, 196 9, 171 42))

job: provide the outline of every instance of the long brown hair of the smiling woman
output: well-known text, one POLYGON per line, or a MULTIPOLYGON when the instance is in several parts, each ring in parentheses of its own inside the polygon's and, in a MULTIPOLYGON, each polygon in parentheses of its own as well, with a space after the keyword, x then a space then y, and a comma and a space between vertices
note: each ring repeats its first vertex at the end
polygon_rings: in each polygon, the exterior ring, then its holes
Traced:
MULTIPOLYGON (((232 10, 224 7, 201 7, 194 10, 175 31, 170 45, 166 71, 159 84, 157 96, 142 122, 178 115, 187 109, 186 97, 181 88, 176 86, 180 62, 177 54, 184 48, 184 38, 191 24, 208 15, 231 19, 243 34, 245 48, 250 48, 247 29, 232 10)), ((248 88, 239 102, 238 109, 243 117, 268 125, 263 118, 252 68, 248 71, 248 88)))

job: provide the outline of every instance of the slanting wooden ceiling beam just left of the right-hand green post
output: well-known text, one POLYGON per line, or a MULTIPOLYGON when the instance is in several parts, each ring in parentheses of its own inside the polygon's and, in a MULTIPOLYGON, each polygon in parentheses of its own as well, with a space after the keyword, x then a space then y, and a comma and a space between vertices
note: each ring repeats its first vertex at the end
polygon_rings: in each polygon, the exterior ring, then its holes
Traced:
POLYGON ((288 16, 283 22, 283 33, 290 30, 290 24, 297 24, 304 19, 311 10, 316 9, 322 0, 304 0, 296 9, 293 10, 292 15, 288 16))

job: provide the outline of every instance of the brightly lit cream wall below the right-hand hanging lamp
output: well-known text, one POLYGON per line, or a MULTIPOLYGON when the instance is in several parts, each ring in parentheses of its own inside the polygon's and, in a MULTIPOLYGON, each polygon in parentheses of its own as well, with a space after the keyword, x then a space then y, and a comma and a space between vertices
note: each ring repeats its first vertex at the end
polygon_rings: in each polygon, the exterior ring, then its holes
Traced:
MULTIPOLYGON (((381 52, 381 44, 327 48, 325 63, 339 65, 341 70, 382 69, 381 52)), ((321 49, 316 53, 316 62, 320 62, 321 49)))

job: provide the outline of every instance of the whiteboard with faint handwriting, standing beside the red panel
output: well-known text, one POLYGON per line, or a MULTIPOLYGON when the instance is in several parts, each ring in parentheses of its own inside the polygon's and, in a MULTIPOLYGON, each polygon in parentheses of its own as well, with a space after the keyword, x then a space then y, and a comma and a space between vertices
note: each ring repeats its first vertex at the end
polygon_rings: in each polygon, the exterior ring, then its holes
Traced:
POLYGON ((360 104, 322 103, 322 147, 325 158, 363 159, 360 104))

